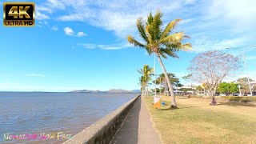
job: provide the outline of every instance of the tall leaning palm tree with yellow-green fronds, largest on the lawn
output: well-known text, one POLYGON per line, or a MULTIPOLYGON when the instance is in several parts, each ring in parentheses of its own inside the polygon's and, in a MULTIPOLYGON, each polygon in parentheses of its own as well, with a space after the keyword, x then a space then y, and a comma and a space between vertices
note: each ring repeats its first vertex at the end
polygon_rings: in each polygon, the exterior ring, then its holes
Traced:
POLYGON ((142 18, 137 20, 137 28, 140 37, 145 41, 145 44, 138 42, 133 36, 128 36, 128 42, 134 46, 139 46, 146 49, 148 54, 156 54, 160 66, 165 74, 166 81, 169 87, 169 92, 171 95, 171 107, 177 108, 177 103, 174 97, 174 90, 170 84, 170 78, 166 72, 166 68, 162 63, 162 58, 167 58, 170 56, 172 58, 178 58, 176 54, 179 50, 190 50, 190 43, 182 43, 184 38, 190 38, 185 35, 184 32, 174 33, 174 27, 178 25, 181 19, 174 19, 174 21, 168 23, 166 28, 162 30, 162 13, 159 11, 153 16, 150 12, 146 19, 146 26, 142 22, 142 18))

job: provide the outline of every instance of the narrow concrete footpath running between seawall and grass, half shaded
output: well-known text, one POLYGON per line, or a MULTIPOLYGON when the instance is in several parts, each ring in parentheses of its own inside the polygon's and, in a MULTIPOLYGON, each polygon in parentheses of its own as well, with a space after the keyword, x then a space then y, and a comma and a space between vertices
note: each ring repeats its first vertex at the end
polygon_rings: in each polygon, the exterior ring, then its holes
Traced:
POLYGON ((142 98, 134 104, 123 125, 115 134, 111 143, 114 144, 160 144, 159 134, 154 130, 153 123, 150 121, 149 111, 142 98))

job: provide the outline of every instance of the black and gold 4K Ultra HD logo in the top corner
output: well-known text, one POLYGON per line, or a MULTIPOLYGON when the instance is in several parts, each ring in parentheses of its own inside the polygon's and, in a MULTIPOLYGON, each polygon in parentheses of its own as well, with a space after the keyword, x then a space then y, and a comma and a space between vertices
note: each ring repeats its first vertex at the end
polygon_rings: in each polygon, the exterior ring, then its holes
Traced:
POLYGON ((4 2, 4 26, 34 26, 34 2, 4 2))

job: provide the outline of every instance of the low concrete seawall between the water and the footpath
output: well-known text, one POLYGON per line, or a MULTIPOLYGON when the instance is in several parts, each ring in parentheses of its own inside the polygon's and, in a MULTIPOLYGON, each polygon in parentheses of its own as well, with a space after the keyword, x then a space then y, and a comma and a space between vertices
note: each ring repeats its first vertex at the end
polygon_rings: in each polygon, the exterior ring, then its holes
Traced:
POLYGON ((98 122, 95 122, 93 125, 87 127, 82 132, 74 135, 73 138, 70 138, 64 144, 67 143, 110 143, 114 138, 114 134, 118 131, 122 122, 126 118, 126 115, 129 113, 130 109, 134 106, 134 103, 138 100, 140 95, 131 99, 129 102, 126 102, 124 105, 120 106, 117 110, 114 110, 112 113, 106 115, 98 122))

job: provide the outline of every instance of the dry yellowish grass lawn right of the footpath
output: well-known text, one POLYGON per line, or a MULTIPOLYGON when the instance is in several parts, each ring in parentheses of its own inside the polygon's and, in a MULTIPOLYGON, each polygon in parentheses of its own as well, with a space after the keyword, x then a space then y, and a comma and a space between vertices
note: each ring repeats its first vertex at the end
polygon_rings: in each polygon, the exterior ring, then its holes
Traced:
POLYGON ((164 143, 256 143, 255 104, 179 97, 179 109, 170 110, 170 97, 162 97, 168 106, 156 110, 153 98, 144 99, 164 143))

